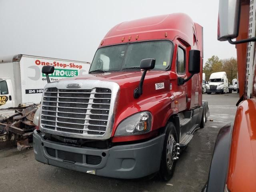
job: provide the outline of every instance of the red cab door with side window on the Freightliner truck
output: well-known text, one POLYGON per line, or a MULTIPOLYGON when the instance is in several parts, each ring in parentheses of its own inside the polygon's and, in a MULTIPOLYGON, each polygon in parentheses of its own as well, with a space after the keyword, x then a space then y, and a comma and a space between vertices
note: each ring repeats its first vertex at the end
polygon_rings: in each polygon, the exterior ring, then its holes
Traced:
MULTIPOLYGON (((178 77, 187 78, 186 69, 187 69, 187 59, 186 59, 186 46, 184 46, 180 41, 177 45, 177 56, 176 56, 176 73, 178 77)), ((188 92, 187 92, 188 82, 178 85, 177 99, 178 99, 178 110, 186 110, 188 102, 188 92)))

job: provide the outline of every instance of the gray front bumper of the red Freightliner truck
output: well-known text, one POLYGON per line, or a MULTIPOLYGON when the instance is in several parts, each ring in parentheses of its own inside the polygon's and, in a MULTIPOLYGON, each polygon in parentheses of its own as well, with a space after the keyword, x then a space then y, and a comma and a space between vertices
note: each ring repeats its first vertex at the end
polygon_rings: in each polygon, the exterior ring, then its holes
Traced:
POLYGON ((165 134, 162 134, 139 144, 114 146, 110 149, 95 149, 50 142, 44 140, 35 130, 33 134, 34 155, 39 162, 70 170, 113 178, 140 178, 159 170, 164 136, 165 134), (49 155, 46 148, 55 149, 57 157, 49 155), (83 157, 82 162, 67 162, 59 158, 58 152, 63 151, 80 154, 83 157), (96 165, 88 164, 86 163, 87 155, 101 156, 102 160, 96 165))

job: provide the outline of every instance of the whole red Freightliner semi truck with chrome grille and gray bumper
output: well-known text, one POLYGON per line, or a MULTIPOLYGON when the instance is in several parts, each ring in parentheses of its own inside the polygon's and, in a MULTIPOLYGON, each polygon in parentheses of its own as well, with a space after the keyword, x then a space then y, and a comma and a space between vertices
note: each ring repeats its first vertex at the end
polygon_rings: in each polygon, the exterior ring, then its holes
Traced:
POLYGON ((202 35, 202 26, 180 13, 114 26, 88 75, 45 86, 34 118, 36 160, 100 176, 159 173, 169 180, 180 151, 206 123, 202 35))

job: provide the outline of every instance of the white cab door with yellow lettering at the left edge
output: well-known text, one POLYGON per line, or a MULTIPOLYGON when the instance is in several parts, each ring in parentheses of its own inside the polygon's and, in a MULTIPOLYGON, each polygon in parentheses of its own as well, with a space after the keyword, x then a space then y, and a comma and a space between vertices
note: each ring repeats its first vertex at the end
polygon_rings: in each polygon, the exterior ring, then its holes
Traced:
POLYGON ((11 80, 10 79, 0 80, 0 109, 13 107, 12 98, 13 96, 12 96, 11 80))

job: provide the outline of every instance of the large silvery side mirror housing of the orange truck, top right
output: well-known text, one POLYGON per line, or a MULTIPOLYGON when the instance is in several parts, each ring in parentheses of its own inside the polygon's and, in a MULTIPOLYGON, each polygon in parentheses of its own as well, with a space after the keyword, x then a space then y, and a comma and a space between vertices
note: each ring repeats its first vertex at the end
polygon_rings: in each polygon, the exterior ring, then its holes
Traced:
POLYGON ((220 0, 218 40, 226 41, 238 36, 241 0, 220 0))

